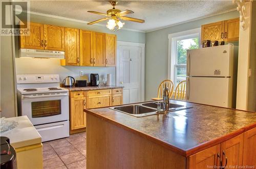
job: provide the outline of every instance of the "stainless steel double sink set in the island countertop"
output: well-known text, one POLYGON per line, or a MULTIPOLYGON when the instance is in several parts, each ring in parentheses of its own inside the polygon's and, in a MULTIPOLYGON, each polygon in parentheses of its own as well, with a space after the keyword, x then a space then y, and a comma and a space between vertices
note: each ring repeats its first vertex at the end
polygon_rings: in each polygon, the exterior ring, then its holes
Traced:
MULTIPOLYGON (((160 103, 161 107, 163 107, 162 106, 163 102, 150 102, 150 103, 142 103, 142 104, 134 104, 134 105, 116 106, 116 107, 111 107, 110 109, 116 110, 125 114, 129 114, 135 117, 144 117, 148 115, 164 113, 164 112, 156 111, 157 103, 160 103)), ((178 110, 183 110, 188 108, 191 108, 191 107, 170 103, 168 112, 178 111, 178 110)))

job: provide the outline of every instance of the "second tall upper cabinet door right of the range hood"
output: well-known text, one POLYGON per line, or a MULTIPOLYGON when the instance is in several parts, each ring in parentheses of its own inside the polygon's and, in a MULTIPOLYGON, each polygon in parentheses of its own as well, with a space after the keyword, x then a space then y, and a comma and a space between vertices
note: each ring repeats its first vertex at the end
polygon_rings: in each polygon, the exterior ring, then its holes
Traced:
POLYGON ((93 32, 80 30, 80 66, 93 65, 93 32))

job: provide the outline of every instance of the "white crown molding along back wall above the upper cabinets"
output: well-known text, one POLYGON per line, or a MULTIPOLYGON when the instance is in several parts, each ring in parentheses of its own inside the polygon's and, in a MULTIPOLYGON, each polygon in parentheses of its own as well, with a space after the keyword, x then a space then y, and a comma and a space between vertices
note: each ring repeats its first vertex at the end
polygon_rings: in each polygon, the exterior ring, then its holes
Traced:
MULTIPOLYGON (((20 10, 20 9, 15 9, 15 11, 17 11, 17 12, 24 12, 24 11, 22 11, 22 10, 20 10)), ((72 19, 72 18, 68 18, 68 17, 56 16, 56 15, 49 15, 49 14, 44 14, 44 13, 32 12, 32 11, 25 11, 25 12, 26 12, 26 13, 29 13, 29 14, 33 14, 33 15, 52 17, 52 18, 56 18, 56 19, 63 19, 63 20, 69 20, 69 21, 80 22, 80 23, 89 23, 89 21, 84 21, 84 20, 79 20, 79 19, 72 19)), ((106 28, 105 25, 100 24, 100 23, 95 23, 94 25, 100 26, 100 27, 105 27, 105 28, 106 28)), ((134 30, 134 29, 129 29, 129 28, 122 28, 121 30, 145 33, 145 31, 134 30)))

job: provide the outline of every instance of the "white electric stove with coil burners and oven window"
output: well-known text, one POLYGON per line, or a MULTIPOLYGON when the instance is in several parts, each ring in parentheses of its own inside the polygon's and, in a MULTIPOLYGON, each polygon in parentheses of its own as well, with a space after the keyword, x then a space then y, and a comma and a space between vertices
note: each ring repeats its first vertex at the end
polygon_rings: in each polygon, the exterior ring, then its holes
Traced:
POLYGON ((69 136, 69 90, 58 75, 17 75, 18 115, 27 115, 42 141, 69 136))

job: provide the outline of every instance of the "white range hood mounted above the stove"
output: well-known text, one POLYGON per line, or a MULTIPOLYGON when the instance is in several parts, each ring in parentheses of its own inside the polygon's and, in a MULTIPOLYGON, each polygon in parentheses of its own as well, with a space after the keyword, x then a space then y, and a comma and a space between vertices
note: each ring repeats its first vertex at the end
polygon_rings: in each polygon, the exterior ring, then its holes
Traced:
POLYGON ((19 57, 64 59, 64 51, 19 49, 19 57))

